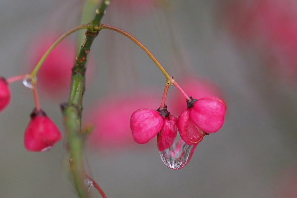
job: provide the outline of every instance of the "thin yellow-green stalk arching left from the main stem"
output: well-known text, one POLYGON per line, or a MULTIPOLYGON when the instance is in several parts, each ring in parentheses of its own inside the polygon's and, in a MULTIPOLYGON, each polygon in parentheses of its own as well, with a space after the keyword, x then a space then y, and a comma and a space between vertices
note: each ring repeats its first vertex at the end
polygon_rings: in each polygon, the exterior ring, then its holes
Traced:
POLYGON ((51 44, 51 46, 49 47, 49 49, 43 54, 43 56, 40 58, 40 60, 38 61, 38 63, 35 65, 35 67, 33 68, 32 72, 30 73, 31 78, 35 78, 36 74, 38 72, 38 70, 40 69, 40 67, 42 66, 43 62, 46 60, 46 58, 49 56, 49 53, 52 51, 52 49, 54 49, 63 39, 65 39, 67 36, 69 36, 70 34, 72 34, 73 32, 76 32, 78 30, 81 29, 87 29, 90 28, 90 24, 83 24, 80 26, 77 26, 67 32, 65 32, 64 34, 62 34, 57 40, 55 40, 55 42, 53 42, 53 44, 51 44))

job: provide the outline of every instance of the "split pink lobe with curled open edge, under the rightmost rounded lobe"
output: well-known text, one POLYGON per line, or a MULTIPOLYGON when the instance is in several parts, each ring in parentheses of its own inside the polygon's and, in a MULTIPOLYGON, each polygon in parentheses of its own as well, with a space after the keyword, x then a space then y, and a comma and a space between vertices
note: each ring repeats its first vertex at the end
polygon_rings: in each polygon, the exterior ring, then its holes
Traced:
POLYGON ((176 125, 185 143, 188 145, 197 145, 202 141, 206 133, 193 124, 190 120, 189 113, 189 109, 184 110, 180 116, 178 116, 176 125))

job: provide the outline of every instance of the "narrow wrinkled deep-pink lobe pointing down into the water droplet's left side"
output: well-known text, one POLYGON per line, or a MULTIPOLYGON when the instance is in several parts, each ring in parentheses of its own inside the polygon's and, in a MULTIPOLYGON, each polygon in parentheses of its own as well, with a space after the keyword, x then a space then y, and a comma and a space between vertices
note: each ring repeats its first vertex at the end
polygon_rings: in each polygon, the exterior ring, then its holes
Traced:
POLYGON ((177 135, 176 117, 169 115, 164 118, 164 125, 157 136, 157 146, 160 152, 170 148, 177 135))

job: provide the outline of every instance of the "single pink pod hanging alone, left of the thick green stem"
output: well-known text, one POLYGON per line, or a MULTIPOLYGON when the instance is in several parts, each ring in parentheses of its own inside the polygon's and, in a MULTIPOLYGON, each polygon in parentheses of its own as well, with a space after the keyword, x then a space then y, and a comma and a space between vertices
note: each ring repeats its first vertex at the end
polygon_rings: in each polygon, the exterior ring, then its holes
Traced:
POLYGON ((28 151, 42 152, 61 140, 60 130, 43 110, 34 109, 30 117, 24 134, 24 144, 28 151))

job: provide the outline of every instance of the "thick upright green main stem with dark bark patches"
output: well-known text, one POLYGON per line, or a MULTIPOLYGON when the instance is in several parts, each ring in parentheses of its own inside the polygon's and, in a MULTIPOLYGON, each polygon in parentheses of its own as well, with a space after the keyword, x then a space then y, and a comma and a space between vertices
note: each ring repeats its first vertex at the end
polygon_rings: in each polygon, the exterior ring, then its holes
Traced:
POLYGON ((75 64, 72 68, 71 88, 68 103, 62 105, 63 121, 70 153, 70 168, 74 184, 80 198, 89 198, 90 195, 84 185, 83 145, 84 135, 81 133, 82 99, 85 90, 85 72, 87 55, 91 45, 99 33, 99 25, 110 0, 104 0, 96 10, 94 20, 87 27, 86 39, 82 45, 75 64))

